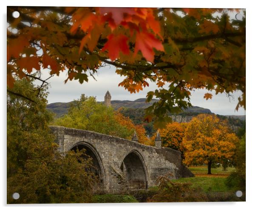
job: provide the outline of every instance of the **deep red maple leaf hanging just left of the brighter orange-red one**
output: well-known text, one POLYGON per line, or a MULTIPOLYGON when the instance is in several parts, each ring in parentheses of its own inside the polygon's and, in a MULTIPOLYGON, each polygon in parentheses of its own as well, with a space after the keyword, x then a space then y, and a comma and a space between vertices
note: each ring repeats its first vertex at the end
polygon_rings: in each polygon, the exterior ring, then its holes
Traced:
POLYGON ((121 51, 123 54, 129 54, 129 47, 127 44, 128 37, 122 34, 115 36, 111 34, 108 36, 108 41, 102 48, 103 51, 108 50, 109 58, 114 61, 119 57, 119 52, 121 51))

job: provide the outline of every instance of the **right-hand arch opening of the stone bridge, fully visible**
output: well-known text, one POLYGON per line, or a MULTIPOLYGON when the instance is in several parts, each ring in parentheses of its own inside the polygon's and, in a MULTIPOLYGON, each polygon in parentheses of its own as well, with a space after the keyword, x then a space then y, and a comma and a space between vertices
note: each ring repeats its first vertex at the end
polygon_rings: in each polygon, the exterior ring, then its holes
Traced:
POLYGON ((139 151, 127 152, 119 163, 119 168, 128 181, 130 189, 148 188, 148 170, 139 151))

